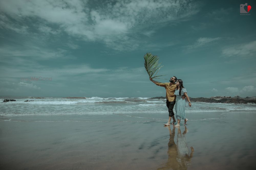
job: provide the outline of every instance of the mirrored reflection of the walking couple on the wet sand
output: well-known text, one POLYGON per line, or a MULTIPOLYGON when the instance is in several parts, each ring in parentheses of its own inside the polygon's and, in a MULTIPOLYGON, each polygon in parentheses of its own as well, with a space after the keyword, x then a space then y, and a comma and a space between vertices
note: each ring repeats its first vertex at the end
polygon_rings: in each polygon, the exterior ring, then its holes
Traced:
POLYGON ((190 147, 191 153, 189 154, 187 142, 186 142, 186 133, 188 132, 187 127, 185 126, 185 130, 183 133, 180 131, 180 127, 178 128, 177 134, 177 142, 175 144, 175 126, 173 126, 173 130, 169 128, 170 139, 168 142, 168 161, 167 163, 158 169, 187 169, 190 165, 190 160, 193 157, 194 148, 190 147))

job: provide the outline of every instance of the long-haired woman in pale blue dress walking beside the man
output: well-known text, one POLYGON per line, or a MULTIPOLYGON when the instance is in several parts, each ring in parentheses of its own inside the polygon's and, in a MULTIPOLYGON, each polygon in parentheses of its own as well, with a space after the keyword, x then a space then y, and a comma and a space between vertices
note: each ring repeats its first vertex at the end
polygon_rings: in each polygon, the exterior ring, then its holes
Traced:
POLYGON ((181 97, 183 95, 185 95, 185 97, 188 100, 189 107, 191 107, 191 102, 187 95, 187 90, 183 87, 183 81, 178 79, 176 82, 177 82, 176 83, 177 87, 175 89, 174 94, 176 95, 175 110, 176 110, 176 119, 178 119, 178 123, 175 126, 177 127, 177 126, 180 126, 179 123, 180 123, 181 119, 184 119, 184 121, 185 121, 184 125, 186 125, 187 121, 188 121, 188 119, 186 119, 186 114, 185 114, 186 101, 184 99, 182 99, 181 97))

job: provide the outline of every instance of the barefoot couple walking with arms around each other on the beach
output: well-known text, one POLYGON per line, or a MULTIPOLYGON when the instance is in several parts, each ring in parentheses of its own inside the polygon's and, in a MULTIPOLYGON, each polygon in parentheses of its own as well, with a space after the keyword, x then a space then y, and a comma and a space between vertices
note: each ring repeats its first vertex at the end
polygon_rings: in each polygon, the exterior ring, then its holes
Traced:
POLYGON ((176 118, 178 119, 178 123, 175 126, 176 127, 180 126, 181 119, 184 119, 185 121, 184 125, 186 125, 188 119, 186 119, 186 114, 185 114, 185 104, 186 104, 186 101, 184 100, 185 97, 188 100, 189 107, 191 107, 191 102, 187 95, 187 90, 183 87, 183 81, 180 79, 177 80, 177 77, 175 76, 170 78, 169 80, 170 83, 158 83, 152 80, 152 78, 150 78, 150 81, 155 83, 157 86, 162 86, 162 87, 165 87, 166 89, 166 106, 169 112, 169 120, 164 125, 169 126, 172 118, 173 118, 173 122, 171 124, 174 124, 176 122, 174 113, 173 113, 173 108, 175 103, 176 103, 175 105, 176 118))

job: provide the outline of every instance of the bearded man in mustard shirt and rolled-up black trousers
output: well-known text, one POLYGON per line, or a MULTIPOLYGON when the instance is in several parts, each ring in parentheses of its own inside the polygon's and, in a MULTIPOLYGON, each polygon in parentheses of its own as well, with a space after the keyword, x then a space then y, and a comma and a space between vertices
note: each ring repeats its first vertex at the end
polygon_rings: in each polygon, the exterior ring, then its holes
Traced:
MULTIPOLYGON (((177 81, 177 77, 175 77, 175 76, 171 77, 169 80, 170 83, 157 83, 154 80, 152 80, 152 78, 150 78, 150 81, 155 83, 157 86, 162 86, 162 87, 165 87, 165 89, 166 89, 166 106, 167 106, 168 112, 169 112, 169 120, 164 125, 170 126, 170 121, 172 118, 173 118, 173 122, 171 124, 174 124, 176 122, 174 113, 173 113, 173 108, 174 108, 175 99, 176 99, 174 92, 176 89, 175 82, 177 81)), ((182 98, 185 99, 185 97, 182 97, 182 98)))

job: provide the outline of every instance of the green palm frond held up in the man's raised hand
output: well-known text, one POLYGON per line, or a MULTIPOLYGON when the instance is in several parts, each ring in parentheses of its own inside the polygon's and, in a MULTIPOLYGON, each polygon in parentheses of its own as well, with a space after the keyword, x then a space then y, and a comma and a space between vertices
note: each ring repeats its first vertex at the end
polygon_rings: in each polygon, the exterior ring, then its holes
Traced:
MULTIPOLYGON (((160 76, 164 76, 164 75, 156 75, 158 73, 158 71, 160 70, 161 67, 161 63, 158 64, 159 61, 159 57, 152 55, 151 53, 146 53, 144 55, 144 66, 145 69, 147 71, 147 74, 149 75, 149 77, 151 77, 152 79, 163 79, 163 78, 156 78, 156 77, 160 77, 160 76)), ((167 80, 167 79, 165 79, 167 80)))

